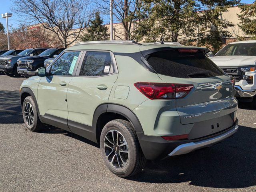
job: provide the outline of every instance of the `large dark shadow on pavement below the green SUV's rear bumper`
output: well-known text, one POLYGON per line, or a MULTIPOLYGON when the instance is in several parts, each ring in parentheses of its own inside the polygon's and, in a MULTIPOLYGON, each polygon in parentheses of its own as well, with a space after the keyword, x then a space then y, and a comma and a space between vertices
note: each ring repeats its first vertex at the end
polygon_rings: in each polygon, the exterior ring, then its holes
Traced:
POLYGON ((212 188, 256 185, 256 129, 240 126, 234 136, 210 148, 168 160, 148 162, 130 178, 149 183, 180 183, 212 188))

